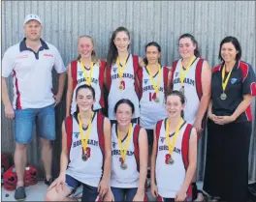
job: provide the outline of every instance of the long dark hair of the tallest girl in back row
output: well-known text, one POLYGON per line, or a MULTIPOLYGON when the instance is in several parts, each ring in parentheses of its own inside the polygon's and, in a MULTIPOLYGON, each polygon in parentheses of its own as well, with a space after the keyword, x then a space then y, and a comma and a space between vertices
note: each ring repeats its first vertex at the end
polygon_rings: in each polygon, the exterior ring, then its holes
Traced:
MULTIPOLYGON (((129 33, 128 29, 126 29, 125 27, 118 27, 116 30, 113 31, 112 39, 111 39, 110 45, 109 45, 108 56, 107 56, 107 66, 108 67, 112 67, 112 64, 115 63, 116 58, 118 56, 117 48, 116 48, 115 44, 113 43, 118 32, 125 32, 127 34, 128 38, 130 39, 130 33, 129 33)), ((129 48, 129 45, 128 45, 128 48, 129 48)))

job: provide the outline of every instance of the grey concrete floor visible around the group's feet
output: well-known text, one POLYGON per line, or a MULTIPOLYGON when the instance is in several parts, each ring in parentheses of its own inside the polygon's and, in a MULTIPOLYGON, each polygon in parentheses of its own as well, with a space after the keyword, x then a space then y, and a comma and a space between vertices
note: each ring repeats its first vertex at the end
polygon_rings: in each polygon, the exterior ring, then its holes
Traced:
MULTIPOLYGON (((198 188, 202 189, 203 183, 199 182, 198 188)), ((40 181, 35 186, 26 188, 26 201, 44 201, 48 186, 43 181, 40 181)), ((155 201, 151 196, 150 191, 147 192, 149 201, 155 201)), ((15 201, 15 191, 8 191, 2 187, 2 200, 1 201, 15 201)))

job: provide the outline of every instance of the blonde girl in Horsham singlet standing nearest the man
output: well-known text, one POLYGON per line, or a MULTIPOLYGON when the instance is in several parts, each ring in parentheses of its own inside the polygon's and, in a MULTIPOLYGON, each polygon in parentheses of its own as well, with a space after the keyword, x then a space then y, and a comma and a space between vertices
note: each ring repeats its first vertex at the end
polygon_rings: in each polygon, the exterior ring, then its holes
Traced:
POLYGON ((74 92, 82 84, 90 85, 95 90, 93 110, 100 111, 105 107, 103 83, 106 62, 97 58, 94 48, 95 43, 90 36, 79 37, 78 50, 80 55, 77 60, 68 65, 66 117, 69 117, 77 109, 74 92))

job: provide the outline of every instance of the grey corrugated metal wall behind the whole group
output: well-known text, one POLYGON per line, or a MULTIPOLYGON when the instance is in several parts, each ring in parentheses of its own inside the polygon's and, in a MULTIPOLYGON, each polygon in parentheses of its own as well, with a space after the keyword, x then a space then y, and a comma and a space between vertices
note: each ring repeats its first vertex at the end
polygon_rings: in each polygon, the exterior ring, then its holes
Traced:
MULTIPOLYGON (((162 46, 162 64, 171 66, 178 58, 177 39, 192 33, 199 42, 202 56, 211 66, 218 63, 220 41, 236 36, 242 47, 242 60, 255 68, 255 2, 252 1, 3 1, 2 54, 23 37, 26 14, 39 14, 44 23, 43 39, 54 44, 67 65, 77 57, 77 39, 83 34, 96 41, 96 51, 106 58, 112 31, 122 25, 131 31, 135 54, 144 56, 144 45, 156 41, 162 46)), ((255 70, 255 69, 254 69, 255 70)), ((56 79, 54 78, 54 86, 56 79)), ((12 93, 11 78, 9 92, 12 93)), ((65 96, 65 95, 64 95, 65 96)), ((255 118, 255 103, 253 112, 255 118)), ((2 107, 2 151, 14 152, 13 124, 4 118, 2 107)), ((54 145, 54 170, 58 170, 60 128, 65 116, 65 99, 56 108, 57 140, 54 145)), ((254 125, 255 126, 255 125, 254 125)), ((29 162, 41 167, 40 146, 33 139, 29 162)), ((206 137, 200 145, 198 178, 203 179, 206 137)), ((256 135, 252 133, 249 179, 256 181, 256 135)))

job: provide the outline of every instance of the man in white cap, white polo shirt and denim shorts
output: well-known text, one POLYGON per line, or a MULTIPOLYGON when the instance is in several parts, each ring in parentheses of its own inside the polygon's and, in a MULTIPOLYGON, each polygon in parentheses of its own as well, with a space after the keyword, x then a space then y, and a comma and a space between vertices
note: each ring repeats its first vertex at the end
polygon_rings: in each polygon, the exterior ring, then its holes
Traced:
POLYGON ((65 66, 59 51, 41 39, 42 22, 38 15, 25 17, 25 38, 11 46, 2 60, 2 101, 5 114, 15 121, 15 165, 17 175, 16 200, 26 198, 23 176, 27 163, 27 145, 32 139, 34 123, 41 137, 42 159, 46 184, 52 182, 51 140, 55 139, 54 106, 61 101, 66 79, 65 66), (51 70, 59 74, 58 92, 52 91, 51 70), (13 105, 9 100, 7 77, 12 73, 14 87, 13 105))

